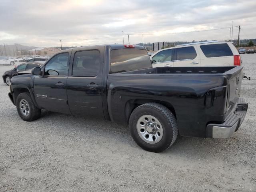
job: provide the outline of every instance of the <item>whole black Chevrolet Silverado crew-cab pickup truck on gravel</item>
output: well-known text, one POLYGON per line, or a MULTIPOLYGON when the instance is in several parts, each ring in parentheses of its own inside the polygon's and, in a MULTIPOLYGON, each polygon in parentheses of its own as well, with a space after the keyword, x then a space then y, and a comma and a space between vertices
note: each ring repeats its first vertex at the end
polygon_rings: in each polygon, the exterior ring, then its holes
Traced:
POLYGON ((9 97, 23 120, 41 109, 128 124, 135 142, 161 152, 178 135, 228 138, 248 104, 239 97, 243 68, 152 68, 142 46, 62 50, 32 74, 11 80, 9 97))

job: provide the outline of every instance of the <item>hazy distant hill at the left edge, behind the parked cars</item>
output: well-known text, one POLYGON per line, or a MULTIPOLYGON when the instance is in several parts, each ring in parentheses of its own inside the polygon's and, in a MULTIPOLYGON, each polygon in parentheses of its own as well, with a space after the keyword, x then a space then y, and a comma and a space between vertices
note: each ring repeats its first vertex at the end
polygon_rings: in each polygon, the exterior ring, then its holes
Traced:
POLYGON ((38 48, 34 46, 25 46, 20 44, 15 45, 0 45, 0 56, 18 56, 18 55, 26 55, 28 50, 38 48))

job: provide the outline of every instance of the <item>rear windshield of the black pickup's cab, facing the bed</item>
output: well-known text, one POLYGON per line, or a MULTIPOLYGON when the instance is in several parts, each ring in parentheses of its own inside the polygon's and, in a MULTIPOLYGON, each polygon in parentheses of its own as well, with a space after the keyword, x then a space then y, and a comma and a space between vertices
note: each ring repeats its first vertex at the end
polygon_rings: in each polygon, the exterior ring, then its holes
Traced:
POLYGON ((111 51, 110 73, 151 68, 148 52, 143 49, 114 49, 111 51))

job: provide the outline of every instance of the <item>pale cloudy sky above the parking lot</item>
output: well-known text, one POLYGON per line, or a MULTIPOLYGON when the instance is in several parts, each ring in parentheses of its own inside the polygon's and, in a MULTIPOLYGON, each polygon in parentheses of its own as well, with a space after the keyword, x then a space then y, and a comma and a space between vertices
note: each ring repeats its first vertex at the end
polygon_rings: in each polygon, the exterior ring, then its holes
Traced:
POLYGON ((144 42, 228 40, 232 20, 242 39, 256 38, 256 1, 0 0, 0 44, 122 44, 122 30, 131 44, 142 34, 144 42))

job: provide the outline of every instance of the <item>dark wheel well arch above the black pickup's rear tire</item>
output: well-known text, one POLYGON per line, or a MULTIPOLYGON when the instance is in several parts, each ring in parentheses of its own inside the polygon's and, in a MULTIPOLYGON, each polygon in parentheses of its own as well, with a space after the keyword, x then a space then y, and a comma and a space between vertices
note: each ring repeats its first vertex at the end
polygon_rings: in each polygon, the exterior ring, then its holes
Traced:
POLYGON ((174 110, 174 107, 172 106, 172 104, 170 104, 168 102, 160 101, 160 100, 153 100, 153 99, 133 99, 133 100, 129 100, 125 106, 126 121, 127 122, 129 121, 130 115, 136 107, 138 107, 142 104, 145 104, 145 103, 152 103, 152 102, 159 103, 159 104, 162 104, 163 106, 167 107, 172 112, 172 114, 174 114, 174 116, 176 118, 176 112, 174 110))

